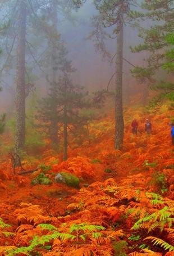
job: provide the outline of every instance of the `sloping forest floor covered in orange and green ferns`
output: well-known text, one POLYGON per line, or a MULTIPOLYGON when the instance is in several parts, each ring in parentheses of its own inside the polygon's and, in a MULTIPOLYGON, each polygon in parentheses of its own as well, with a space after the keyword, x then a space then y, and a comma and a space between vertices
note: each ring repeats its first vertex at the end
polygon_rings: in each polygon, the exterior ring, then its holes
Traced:
POLYGON ((173 256, 171 116, 167 104, 127 109, 122 151, 114 149, 111 114, 90 124, 93 136, 72 144, 67 161, 47 151, 40 168, 25 176, 13 174, 10 159, 1 162, 0 255, 173 256), (56 183, 59 172, 74 174, 80 187, 56 183), (52 183, 31 185, 41 173, 52 183))

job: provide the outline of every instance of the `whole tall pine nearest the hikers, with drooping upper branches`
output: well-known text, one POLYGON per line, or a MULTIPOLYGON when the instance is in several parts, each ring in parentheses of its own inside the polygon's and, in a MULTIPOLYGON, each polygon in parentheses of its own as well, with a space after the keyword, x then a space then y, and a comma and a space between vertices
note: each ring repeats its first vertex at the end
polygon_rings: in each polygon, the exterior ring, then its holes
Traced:
MULTIPOLYGON (((127 15, 130 11, 130 4, 134 1, 129 0, 94 0, 95 7, 99 11, 97 19, 97 43, 100 50, 104 50, 103 38, 107 37, 107 33, 102 27, 113 27, 113 35, 117 36, 116 42, 116 93, 115 93, 115 148, 121 149, 123 145, 123 101, 122 101, 122 73, 123 73, 123 29, 127 15), (100 37, 100 38, 99 38, 100 37)), ((96 21, 95 21, 96 23, 96 21)), ((106 52, 106 51, 105 51, 106 52)), ((107 54, 107 52, 105 53, 107 54)))

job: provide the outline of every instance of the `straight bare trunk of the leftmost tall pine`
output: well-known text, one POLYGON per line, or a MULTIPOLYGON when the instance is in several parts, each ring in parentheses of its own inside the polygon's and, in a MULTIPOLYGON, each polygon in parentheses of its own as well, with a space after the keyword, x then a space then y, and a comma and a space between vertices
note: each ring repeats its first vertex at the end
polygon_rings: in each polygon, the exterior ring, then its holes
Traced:
POLYGON ((25 37, 26 37, 26 3, 19 3, 18 46, 17 46, 17 86, 16 86, 16 153, 25 145, 25 37))

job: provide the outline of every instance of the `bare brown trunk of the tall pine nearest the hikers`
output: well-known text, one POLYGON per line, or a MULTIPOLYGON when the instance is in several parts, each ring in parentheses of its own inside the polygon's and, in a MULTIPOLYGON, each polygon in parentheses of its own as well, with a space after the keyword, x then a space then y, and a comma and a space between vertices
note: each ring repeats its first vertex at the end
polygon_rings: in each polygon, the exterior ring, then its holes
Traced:
POLYGON ((120 8, 120 24, 117 33, 116 53, 116 97, 115 97, 115 148, 121 149, 123 145, 123 106, 122 106, 122 70, 123 70, 123 12, 120 8))

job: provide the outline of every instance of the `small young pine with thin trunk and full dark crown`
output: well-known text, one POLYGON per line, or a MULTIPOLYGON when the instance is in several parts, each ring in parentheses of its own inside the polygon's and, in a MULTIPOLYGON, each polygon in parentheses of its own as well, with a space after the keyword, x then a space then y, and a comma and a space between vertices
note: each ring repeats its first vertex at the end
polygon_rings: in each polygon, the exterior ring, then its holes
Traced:
MULTIPOLYGON (((54 87, 50 88, 48 97, 43 98, 39 104, 38 118, 47 128, 47 133, 52 140, 51 122, 54 119, 59 127, 63 125, 63 159, 67 159, 68 148, 68 132, 73 132, 79 125, 84 125, 89 117, 79 114, 79 110, 90 107, 89 101, 86 101, 87 93, 83 91, 83 87, 74 86, 70 79, 71 62, 66 60, 66 50, 63 47, 59 52, 59 73, 58 81, 54 87), (53 106, 56 113, 53 113, 53 106)), ((61 131, 59 131, 60 133, 61 131)), ((57 133, 58 137, 58 133, 57 133)))

